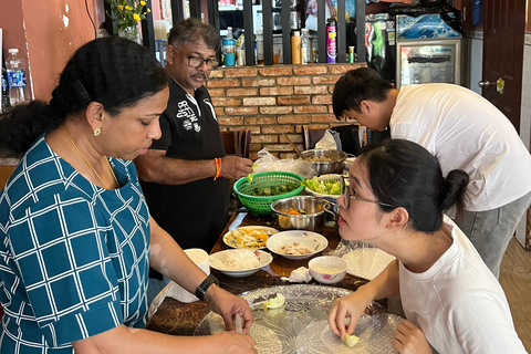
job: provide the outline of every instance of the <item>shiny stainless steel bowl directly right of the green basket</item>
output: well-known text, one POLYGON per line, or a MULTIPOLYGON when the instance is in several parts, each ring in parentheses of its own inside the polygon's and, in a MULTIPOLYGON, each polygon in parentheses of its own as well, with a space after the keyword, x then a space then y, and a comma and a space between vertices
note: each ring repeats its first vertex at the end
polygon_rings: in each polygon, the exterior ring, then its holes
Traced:
POLYGON ((326 222, 326 208, 323 200, 311 196, 291 197, 271 204, 279 227, 284 230, 322 232, 326 222), (304 210, 305 215, 290 215, 290 208, 304 210))

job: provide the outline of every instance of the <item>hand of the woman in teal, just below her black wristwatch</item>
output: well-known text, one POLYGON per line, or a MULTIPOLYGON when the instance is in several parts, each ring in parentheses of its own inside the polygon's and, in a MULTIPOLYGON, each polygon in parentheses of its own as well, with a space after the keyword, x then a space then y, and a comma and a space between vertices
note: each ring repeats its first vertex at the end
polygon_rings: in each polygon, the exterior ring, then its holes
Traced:
POLYGON ((225 321, 227 331, 236 331, 233 315, 238 314, 242 320, 241 331, 249 332, 252 324, 251 309, 249 303, 231 294, 223 289, 211 285, 205 294, 205 301, 210 310, 218 313, 225 321))

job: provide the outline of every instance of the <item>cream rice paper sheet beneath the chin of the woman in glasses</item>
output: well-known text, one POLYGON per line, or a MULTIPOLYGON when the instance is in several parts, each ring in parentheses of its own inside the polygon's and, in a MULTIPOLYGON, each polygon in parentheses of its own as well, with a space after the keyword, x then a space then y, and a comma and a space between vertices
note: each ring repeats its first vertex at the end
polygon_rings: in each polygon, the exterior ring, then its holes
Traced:
POLYGON ((373 280, 395 257, 378 248, 362 247, 342 257, 346 261, 346 272, 351 275, 373 280))

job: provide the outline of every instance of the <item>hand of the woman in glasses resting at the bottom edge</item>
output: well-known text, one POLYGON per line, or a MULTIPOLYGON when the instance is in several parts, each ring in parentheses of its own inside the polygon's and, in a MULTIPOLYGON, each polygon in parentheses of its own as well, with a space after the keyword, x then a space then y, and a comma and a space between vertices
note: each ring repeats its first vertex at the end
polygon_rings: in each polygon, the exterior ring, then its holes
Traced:
POLYGON ((431 347, 423 331, 412 322, 404 320, 393 334, 393 347, 400 354, 431 354, 431 347))

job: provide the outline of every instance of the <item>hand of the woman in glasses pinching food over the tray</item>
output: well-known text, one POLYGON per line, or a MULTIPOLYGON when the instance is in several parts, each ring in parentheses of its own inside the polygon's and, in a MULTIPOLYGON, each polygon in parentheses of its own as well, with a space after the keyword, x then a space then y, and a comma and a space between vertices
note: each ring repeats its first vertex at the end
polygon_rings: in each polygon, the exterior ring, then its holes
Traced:
POLYGON ((361 291, 353 292, 347 296, 336 299, 329 313, 329 324, 332 332, 341 339, 345 333, 353 334, 356 327, 357 319, 365 312, 372 299, 366 299, 361 291), (345 319, 351 319, 348 325, 345 325, 345 319))

